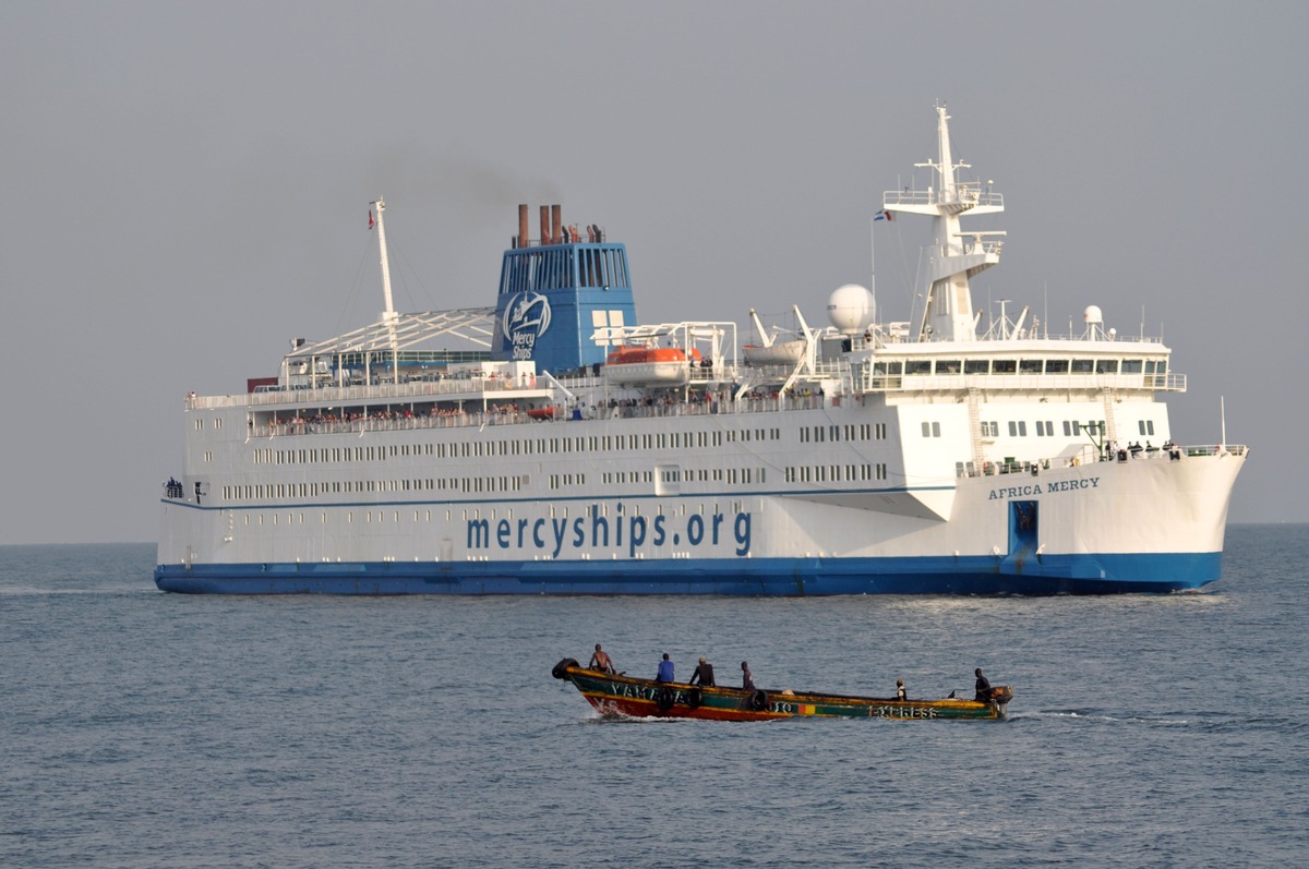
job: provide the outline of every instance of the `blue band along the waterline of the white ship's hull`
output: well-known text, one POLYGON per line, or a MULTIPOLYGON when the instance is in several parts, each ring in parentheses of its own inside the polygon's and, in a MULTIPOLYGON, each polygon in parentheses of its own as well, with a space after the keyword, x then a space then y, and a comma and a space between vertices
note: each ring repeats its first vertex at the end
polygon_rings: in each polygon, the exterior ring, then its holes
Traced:
POLYGON ((1221 552, 970 558, 161 564, 165 592, 211 594, 1109 594, 1217 580, 1221 552))

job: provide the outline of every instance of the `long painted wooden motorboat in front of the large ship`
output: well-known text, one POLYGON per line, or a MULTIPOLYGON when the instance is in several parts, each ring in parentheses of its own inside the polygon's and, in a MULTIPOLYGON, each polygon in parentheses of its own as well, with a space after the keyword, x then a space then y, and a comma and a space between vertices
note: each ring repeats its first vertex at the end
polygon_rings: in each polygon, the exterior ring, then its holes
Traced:
POLYGON ((606 717, 706 718, 711 721, 772 721, 775 718, 1003 718, 1013 691, 1007 684, 991 688, 991 699, 944 698, 940 700, 894 700, 809 691, 703 687, 682 682, 656 682, 630 675, 589 670, 575 658, 564 658, 551 671, 572 682, 586 701, 606 717))

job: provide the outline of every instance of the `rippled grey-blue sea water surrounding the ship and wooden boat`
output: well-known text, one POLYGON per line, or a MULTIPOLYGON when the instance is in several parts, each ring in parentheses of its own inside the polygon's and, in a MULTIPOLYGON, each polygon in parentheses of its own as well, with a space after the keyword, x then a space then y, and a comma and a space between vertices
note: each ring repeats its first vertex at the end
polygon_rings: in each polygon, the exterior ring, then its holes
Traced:
POLYGON ((1198 594, 330 598, 154 590, 153 547, 0 547, 3 866, 1304 865, 1309 527, 1198 594), (618 667, 1005 722, 602 721, 618 667))

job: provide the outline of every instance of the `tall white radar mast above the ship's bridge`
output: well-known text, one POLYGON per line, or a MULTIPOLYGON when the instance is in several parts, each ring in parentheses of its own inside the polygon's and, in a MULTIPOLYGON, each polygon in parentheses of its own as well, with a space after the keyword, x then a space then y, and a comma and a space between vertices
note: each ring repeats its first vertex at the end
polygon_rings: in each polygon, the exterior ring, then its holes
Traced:
POLYGON ((1004 211, 1004 198, 978 182, 959 181, 959 169, 970 164, 956 162, 950 153, 950 116, 944 105, 936 106, 937 158, 914 164, 936 170, 939 186, 925 191, 888 191, 886 211, 928 215, 933 217, 935 238, 928 274, 927 304, 918 328, 918 340, 966 342, 975 339, 975 315, 969 277, 1000 262, 1000 237, 1004 232, 961 232, 965 213, 992 215, 1004 211))

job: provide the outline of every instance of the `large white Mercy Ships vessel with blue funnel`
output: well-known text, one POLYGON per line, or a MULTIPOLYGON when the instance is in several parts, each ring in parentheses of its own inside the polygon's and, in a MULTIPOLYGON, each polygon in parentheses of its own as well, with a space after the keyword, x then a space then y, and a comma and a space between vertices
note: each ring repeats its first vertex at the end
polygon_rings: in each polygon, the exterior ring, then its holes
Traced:
POLYGON ((927 186, 882 200, 935 224, 922 317, 880 322, 869 291, 842 287, 830 327, 796 308, 802 344, 750 365, 734 323, 639 325, 624 246, 558 205, 538 239, 520 207, 495 309, 395 313, 377 200, 382 318, 296 342, 243 394, 186 398, 156 582, 802 595, 1217 580, 1246 448, 1178 445, 1170 349, 1094 305, 1080 335, 1026 309, 983 321, 969 279, 1004 233, 961 221, 1004 202, 962 178, 937 115, 927 186), (483 349, 435 349, 456 336, 483 349))

